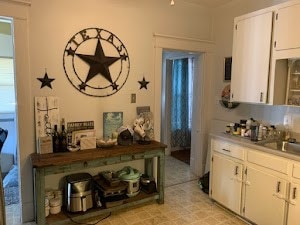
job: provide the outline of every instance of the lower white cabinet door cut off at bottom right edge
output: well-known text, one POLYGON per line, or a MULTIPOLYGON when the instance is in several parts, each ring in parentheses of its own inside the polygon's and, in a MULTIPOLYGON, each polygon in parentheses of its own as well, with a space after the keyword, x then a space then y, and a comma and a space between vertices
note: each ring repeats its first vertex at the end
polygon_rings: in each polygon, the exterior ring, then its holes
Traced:
POLYGON ((296 183, 291 183, 287 225, 299 224, 299 212, 300 212, 299 194, 300 194, 300 185, 296 183))

